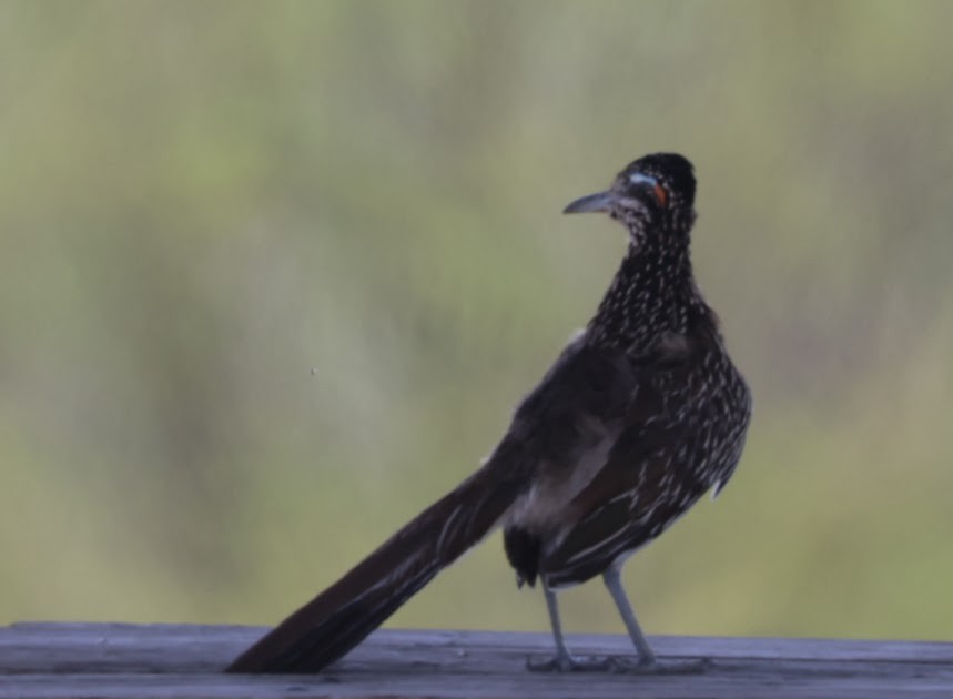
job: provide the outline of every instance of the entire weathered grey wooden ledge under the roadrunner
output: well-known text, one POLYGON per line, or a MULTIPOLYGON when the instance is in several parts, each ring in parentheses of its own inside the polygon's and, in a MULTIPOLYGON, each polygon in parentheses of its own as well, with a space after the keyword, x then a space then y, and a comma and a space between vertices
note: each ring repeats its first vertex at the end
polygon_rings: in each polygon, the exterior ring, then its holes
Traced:
MULTIPOLYGON (((18 624, 0 628, 0 698, 12 697, 943 697, 953 644, 655 637, 662 657, 706 657, 699 675, 545 675, 545 634, 379 630, 326 673, 221 675, 265 629, 18 624)), ((572 636, 580 655, 628 655, 619 636, 572 636)))

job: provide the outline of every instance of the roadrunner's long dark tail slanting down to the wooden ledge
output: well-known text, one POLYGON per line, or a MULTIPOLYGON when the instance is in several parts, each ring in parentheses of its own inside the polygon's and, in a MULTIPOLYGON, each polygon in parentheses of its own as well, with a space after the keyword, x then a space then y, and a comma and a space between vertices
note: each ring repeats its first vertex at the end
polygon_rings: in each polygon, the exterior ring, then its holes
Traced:
POLYGON ((527 484, 513 448, 420 513, 337 582, 249 648, 226 672, 317 672, 354 648, 480 540, 527 484))

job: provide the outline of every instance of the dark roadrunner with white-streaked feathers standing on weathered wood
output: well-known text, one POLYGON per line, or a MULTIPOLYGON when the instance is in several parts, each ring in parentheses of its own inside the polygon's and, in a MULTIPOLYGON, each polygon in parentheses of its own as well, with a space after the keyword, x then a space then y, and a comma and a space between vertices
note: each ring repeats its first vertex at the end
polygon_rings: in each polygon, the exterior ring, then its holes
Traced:
POLYGON ((627 230, 598 308, 513 413, 483 465, 338 581, 241 654, 226 672, 317 672, 342 658, 443 568, 503 529, 517 584, 543 588, 556 652, 533 670, 665 671, 621 584, 627 558, 741 458, 751 394, 689 255, 695 169, 678 153, 627 165, 564 213, 599 212, 627 230), (635 660, 577 658, 557 594, 601 576, 635 660), (623 665, 619 665, 619 663, 623 665))

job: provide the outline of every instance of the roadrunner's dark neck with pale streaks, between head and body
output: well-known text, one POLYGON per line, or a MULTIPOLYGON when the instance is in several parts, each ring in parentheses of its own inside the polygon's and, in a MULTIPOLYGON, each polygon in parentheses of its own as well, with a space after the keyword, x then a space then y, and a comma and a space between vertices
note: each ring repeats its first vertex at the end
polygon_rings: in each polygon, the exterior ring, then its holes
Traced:
POLYGON ((623 350, 630 355, 651 352, 675 333, 686 335, 699 325, 716 328, 713 312, 695 284, 688 240, 659 245, 629 244, 626 257, 589 322, 589 342, 623 350))

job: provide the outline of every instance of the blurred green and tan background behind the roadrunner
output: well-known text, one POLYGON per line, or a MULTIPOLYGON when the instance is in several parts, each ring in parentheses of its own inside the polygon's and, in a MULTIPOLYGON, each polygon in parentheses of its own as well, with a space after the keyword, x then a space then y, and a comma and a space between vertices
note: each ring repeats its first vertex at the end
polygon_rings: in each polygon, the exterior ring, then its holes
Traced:
MULTIPOLYGON (((650 632, 951 638, 953 3, 3 2, 0 622, 275 622, 463 479, 656 150, 748 376, 650 632), (312 371, 314 369, 314 371, 312 371)), ((598 581, 570 631, 621 632, 598 581)), ((392 626, 546 629, 499 536, 392 626)))

